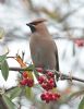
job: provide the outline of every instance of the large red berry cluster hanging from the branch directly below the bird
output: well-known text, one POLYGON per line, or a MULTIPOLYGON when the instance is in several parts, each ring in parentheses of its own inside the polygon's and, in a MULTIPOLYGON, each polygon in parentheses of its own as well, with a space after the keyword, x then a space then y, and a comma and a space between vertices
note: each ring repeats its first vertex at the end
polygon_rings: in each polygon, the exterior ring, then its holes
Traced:
POLYGON ((38 83, 46 90, 52 89, 56 86, 53 73, 52 72, 47 72, 47 76, 40 75, 38 77, 38 83))

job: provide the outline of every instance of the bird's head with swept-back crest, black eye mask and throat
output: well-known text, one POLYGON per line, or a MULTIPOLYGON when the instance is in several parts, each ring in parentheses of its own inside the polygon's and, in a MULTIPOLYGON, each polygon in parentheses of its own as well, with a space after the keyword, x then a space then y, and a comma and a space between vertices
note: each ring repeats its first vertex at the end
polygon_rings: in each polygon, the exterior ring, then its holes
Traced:
POLYGON ((29 26, 32 33, 36 32, 36 31, 40 31, 43 29, 44 26, 44 22, 46 22, 46 19, 37 19, 28 24, 26 24, 27 26, 29 26))

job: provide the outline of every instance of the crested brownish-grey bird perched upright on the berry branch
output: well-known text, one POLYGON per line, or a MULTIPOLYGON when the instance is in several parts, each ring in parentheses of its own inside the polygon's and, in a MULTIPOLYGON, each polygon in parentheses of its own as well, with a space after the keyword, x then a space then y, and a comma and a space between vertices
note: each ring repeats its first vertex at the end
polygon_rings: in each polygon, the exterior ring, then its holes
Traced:
POLYGON ((59 71, 58 48, 45 22, 46 19, 34 20, 26 25, 31 28, 29 40, 32 61, 35 68, 59 71))

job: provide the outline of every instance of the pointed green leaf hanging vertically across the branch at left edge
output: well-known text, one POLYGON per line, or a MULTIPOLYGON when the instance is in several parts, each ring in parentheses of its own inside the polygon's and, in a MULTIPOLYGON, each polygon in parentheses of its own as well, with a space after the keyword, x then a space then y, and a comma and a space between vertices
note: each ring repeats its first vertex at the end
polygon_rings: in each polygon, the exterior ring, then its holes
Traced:
POLYGON ((8 65, 7 60, 2 61, 1 63, 1 72, 2 72, 4 80, 7 81, 9 76, 9 65, 8 65))

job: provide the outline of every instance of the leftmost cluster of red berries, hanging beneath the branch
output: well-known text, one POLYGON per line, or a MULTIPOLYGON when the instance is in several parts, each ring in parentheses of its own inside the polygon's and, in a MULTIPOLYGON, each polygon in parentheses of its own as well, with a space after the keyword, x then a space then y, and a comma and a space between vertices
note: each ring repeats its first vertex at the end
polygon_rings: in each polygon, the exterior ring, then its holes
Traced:
POLYGON ((26 85, 26 86, 28 86, 28 87, 33 87, 33 85, 34 85, 34 80, 33 80, 33 78, 28 78, 26 72, 23 72, 22 76, 23 76, 23 78, 22 78, 22 81, 20 82, 20 84, 21 84, 21 85, 26 85))

